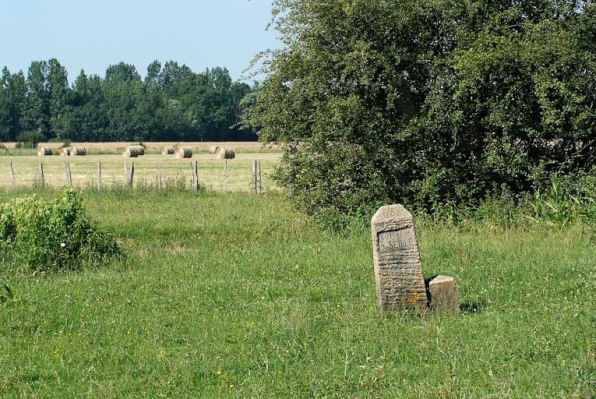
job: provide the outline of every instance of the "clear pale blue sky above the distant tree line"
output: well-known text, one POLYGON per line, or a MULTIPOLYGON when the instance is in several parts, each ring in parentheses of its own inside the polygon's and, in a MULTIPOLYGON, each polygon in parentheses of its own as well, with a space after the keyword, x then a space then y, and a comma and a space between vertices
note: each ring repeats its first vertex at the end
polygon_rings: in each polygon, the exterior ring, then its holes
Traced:
POLYGON ((195 72, 227 67, 239 79, 253 56, 278 46, 265 28, 271 0, 0 0, 0 68, 57 58, 72 82, 124 61, 145 76, 153 60, 195 72))

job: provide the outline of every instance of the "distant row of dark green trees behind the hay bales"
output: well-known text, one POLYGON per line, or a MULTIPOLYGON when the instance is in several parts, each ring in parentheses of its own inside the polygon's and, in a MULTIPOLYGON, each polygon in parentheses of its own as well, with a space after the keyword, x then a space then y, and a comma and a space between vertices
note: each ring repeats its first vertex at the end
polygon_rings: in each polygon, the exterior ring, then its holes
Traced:
POLYGON ((26 76, 4 67, 0 141, 256 140, 238 127, 255 88, 225 68, 194 73, 174 61, 154 61, 145 79, 120 63, 103 78, 81 71, 72 84, 56 59, 32 62, 26 76))

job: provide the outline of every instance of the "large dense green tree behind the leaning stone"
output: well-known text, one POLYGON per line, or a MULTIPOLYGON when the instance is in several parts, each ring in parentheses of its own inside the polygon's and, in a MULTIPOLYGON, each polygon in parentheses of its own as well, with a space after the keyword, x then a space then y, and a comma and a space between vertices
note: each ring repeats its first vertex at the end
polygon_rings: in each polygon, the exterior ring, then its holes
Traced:
POLYGON ((300 144, 278 178, 309 214, 519 199, 596 162, 592 1, 277 0, 275 13, 285 47, 247 123, 300 144), (357 178, 297 173, 309 165, 357 178))

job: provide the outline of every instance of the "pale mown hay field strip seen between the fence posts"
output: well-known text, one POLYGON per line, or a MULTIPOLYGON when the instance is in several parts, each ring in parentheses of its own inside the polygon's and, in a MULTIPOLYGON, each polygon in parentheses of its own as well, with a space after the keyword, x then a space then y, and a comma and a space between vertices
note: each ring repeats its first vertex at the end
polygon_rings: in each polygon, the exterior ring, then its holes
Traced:
MULTIPOLYGON (((212 145, 212 143, 210 143, 212 145)), ((229 143, 228 143, 229 144, 229 143)), ((256 143, 260 145, 259 143, 256 143)), ((87 147, 90 148, 90 147, 87 147)), ((161 151, 161 147, 160 151, 161 151)), ((249 147, 245 147, 249 148, 249 147)), ((135 187, 156 186, 159 165, 162 165, 164 186, 186 185, 190 187, 192 175, 190 163, 198 162, 199 184, 207 189, 223 191, 224 161, 215 155, 200 152, 192 159, 176 159, 172 155, 151 154, 125 159, 121 155, 92 155, 84 157, 62 157, 35 155, 9 156, 0 153, 0 189, 10 188, 9 164, 12 162, 16 187, 33 187, 39 185, 39 165, 43 164, 45 185, 61 187, 67 184, 64 163, 69 162, 73 185, 75 187, 91 187, 97 184, 97 164, 102 166, 102 185, 106 188, 123 186, 126 182, 124 164, 135 164, 135 187)), ((250 192, 252 190, 252 161, 261 160, 263 192, 276 189, 269 177, 281 154, 273 152, 240 152, 236 159, 228 160, 227 189, 234 192, 250 192)))

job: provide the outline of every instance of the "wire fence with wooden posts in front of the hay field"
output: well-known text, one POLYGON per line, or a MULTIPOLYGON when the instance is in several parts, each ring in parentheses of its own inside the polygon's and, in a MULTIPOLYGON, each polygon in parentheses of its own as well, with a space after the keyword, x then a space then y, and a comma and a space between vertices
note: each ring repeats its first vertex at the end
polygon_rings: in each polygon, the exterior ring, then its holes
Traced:
POLYGON ((209 189, 220 192, 263 194, 277 189, 270 178, 277 159, 122 160, 58 157, 5 157, 0 159, 0 189, 23 187, 209 189), (23 159, 19 159, 23 158, 23 159), (25 159, 26 158, 26 159, 25 159))

